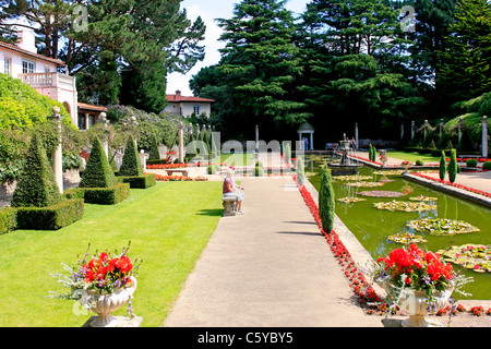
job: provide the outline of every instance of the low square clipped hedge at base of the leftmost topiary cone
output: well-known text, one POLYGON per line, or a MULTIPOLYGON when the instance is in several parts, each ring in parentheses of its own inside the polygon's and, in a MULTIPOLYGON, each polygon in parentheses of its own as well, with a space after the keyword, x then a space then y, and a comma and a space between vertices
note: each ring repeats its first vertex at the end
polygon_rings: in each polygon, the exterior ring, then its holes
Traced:
POLYGON ((16 208, 17 229, 58 230, 79 220, 84 215, 84 202, 67 200, 48 207, 16 208))

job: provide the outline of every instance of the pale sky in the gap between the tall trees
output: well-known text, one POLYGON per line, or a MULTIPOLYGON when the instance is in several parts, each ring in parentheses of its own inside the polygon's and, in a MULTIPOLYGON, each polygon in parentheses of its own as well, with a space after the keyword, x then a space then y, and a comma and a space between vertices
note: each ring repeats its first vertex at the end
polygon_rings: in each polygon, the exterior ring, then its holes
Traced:
MULTIPOLYGON (((184 0, 181 5, 185 8, 188 17, 195 20, 199 15, 206 24, 206 38, 204 41, 206 56, 202 62, 199 62, 189 73, 169 74, 167 76, 167 94, 175 94, 176 89, 181 91, 184 96, 192 96, 189 88, 189 81, 202 68, 218 63, 220 55, 218 49, 225 46, 225 43, 218 41, 221 29, 216 25, 215 19, 229 19, 232 15, 235 3, 240 0, 184 0)), ((295 13, 302 13, 306 4, 310 0, 288 0, 286 8, 295 13)))

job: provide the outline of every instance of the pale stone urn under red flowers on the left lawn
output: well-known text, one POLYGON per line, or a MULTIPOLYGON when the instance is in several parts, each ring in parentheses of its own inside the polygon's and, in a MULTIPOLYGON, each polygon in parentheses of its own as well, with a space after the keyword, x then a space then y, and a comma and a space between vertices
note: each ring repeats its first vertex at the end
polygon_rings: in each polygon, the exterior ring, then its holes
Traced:
POLYGON ((94 297, 96 299, 95 305, 89 310, 96 313, 98 316, 91 323, 91 327, 115 327, 119 321, 111 315, 118 309, 123 306, 132 297, 136 290, 136 279, 131 277, 131 282, 112 293, 107 292, 99 293, 94 290, 89 290, 82 297, 80 302, 84 305, 88 303, 88 299, 94 297))

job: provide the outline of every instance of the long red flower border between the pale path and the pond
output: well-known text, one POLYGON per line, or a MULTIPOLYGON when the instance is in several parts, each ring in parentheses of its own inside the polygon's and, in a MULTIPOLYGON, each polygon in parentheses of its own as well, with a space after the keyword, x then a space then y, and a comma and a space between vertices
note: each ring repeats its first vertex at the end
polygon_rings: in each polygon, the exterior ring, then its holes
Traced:
MULTIPOLYGON (((349 253, 346 245, 343 243, 342 239, 339 238, 339 234, 333 229, 331 232, 326 232, 322 228, 321 218, 319 215, 319 206, 315 203, 314 198, 312 197, 311 193, 307 190, 306 185, 300 186, 297 181, 297 176, 292 176, 295 182, 297 183, 297 188, 300 191, 300 194, 303 197, 303 201, 306 202, 306 205, 309 207, 312 216, 314 217, 319 229, 324 234, 331 250, 334 253, 334 256, 337 258, 338 264, 343 268, 343 273, 346 276, 346 278, 349 280, 349 286, 351 290, 354 291, 355 296, 357 297, 358 303, 364 309, 366 313, 369 315, 386 315, 388 305, 384 303, 382 298, 378 294, 375 289, 369 284, 363 273, 357 267, 357 263, 355 262, 355 258, 349 253)), ((490 304, 491 305, 491 304, 490 304)), ((470 305, 469 305, 470 306, 470 305)), ((450 314, 451 316, 455 316, 458 313, 467 313, 472 315, 472 317, 481 316, 483 314, 491 316, 491 308, 489 308, 484 312, 484 308, 482 305, 475 305, 470 306, 469 310, 462 305, 460 303, 454 306, 455 309, 447 305, 446 308, 439 311, 436 316, 443 316, 450 314), (476 311, 478 310, 478 311, 476 311)), ((405 313, 393 313, 393 315, 406 315, 405 313)), ((456 320, 453 320, 455 323, 456 320)), ((469 326, 469 323, 471 321, 469 318, 465 318, 459 321, 455 326, 469 326), (464 323, 465 322, 465 323, 464 323)), ((474 321, 474 324, 471 325, 483 325, 486 327, 491 327, 491 320, 483 318, 483 321, 476 323, 474 321)))

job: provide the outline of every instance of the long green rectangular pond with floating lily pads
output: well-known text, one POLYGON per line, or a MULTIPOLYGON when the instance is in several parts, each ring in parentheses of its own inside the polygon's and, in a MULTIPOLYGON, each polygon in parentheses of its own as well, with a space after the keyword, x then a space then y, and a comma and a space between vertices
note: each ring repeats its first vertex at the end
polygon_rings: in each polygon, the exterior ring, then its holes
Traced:
MULTIPOLYGON (((306 157, 306 174, 318 191, 323 164, 319 155, 306 157)), ((465 286, 471 297, 454 297, 491 299, 491 209, 404 179, 400 172, 363 166, 360 177, 333 176, 336 215, 374 260, 408 238, 420 239, 417 244, 428 251, 445 250, 442 255, 454 269, 475 280, 465 286)))

